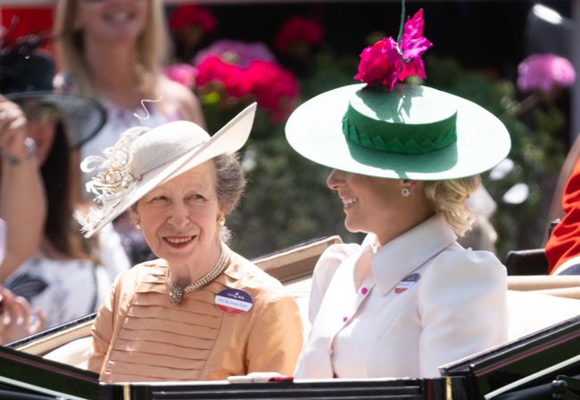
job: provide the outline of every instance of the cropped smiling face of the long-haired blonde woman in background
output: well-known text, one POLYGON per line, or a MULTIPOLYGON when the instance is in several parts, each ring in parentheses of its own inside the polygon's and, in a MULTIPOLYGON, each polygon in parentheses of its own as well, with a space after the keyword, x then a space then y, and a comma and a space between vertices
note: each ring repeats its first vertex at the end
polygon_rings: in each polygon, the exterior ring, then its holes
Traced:
POLYGON ((136 41, 145 29, 150 1, 77 0, 76 22, 87 40, 136 41))

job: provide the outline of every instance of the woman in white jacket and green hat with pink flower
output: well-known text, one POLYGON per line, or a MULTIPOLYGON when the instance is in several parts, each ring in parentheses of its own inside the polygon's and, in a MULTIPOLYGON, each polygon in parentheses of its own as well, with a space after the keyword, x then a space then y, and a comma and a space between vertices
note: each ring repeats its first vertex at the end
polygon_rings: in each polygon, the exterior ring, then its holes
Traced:
MULTIPOLYGON (((422 19, 420 28, 419 37, 422 19)), ((377 54, 385 60, 372 68, 395 63, 393 80, 376 75, 389 84, 416 60, 395 47, 390 61, 377 54)), ((366 70, 361 62, 357 77, 366 70)), ((346 228, 369 233, 361 246, 327 249, 316 265, 297 378, 433 377, 443 363, 508 337, 504 266, 456 241, 472 220, 465 201, 477 174, 510 150, 506 128, 452 94, 373 83, 320 94, 286 125, 294 150, 334 168, 327 185, 342 200, 346 228)))

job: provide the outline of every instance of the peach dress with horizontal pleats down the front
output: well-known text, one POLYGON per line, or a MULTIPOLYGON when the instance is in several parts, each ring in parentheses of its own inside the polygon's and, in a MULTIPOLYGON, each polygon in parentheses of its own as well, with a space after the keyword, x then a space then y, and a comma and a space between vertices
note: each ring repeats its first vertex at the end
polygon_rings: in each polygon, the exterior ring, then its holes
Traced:
POLYGON ((88 369, 105 382, 291 375, 302 347, 294 298, 259 267, 230 254, 226 271, 178 306, 168 300, 166 261, 121 273, 96 316, 88 369), (222 311, 216 300, 224 290, 242 291, 253 306, 239 314, 222 311))

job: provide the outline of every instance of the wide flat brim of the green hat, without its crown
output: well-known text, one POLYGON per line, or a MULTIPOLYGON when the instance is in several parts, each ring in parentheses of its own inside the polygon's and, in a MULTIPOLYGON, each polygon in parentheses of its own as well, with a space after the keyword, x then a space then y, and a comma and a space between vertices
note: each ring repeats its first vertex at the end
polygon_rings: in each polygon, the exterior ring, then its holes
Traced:
POLYGON ((499 164, 510 151, 510 134, 501 121, 476 103, 453 94, 447 95, 457 104, 457 142, 446 148, 400 154, 351 143, 343 134, 343 116, 351 95, 363 86, 339 87, 304 102, 286 123, 288 143, 303 157, 327 167, 414 180, 473 176, 499 164))

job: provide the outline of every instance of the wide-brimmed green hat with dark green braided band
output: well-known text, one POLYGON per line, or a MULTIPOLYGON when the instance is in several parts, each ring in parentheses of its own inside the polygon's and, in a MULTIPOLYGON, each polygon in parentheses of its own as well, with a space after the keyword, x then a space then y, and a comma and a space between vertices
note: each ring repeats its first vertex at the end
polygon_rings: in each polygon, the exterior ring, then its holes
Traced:
POLYGON ((491 169, 510 134, 474 102, 427 86, 343 86, 304 102, 286 123, 302 156, 366 176, 440 180, 491 169))

